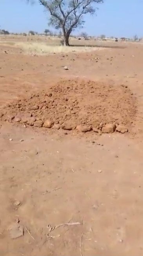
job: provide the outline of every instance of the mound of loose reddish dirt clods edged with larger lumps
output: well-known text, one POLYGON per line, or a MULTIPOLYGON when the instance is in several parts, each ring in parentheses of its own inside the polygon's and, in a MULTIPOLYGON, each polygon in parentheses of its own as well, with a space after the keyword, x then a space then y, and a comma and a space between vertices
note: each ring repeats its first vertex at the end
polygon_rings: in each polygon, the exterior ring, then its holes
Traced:
POLYGON ((136 102, 126 86, 62 80, 47 91, 7 105, 1 119, 25 126, 99 132, 109 123, 130 128, 135 114, 136 102))

